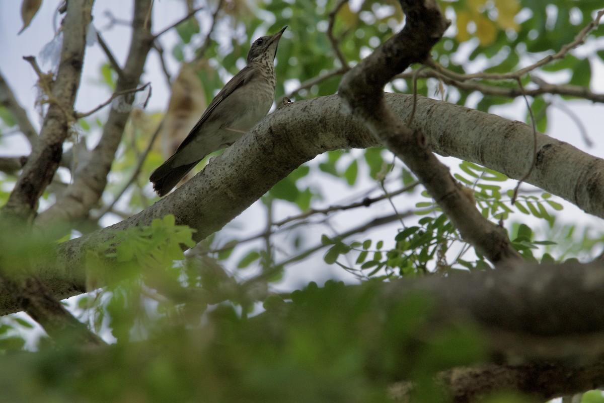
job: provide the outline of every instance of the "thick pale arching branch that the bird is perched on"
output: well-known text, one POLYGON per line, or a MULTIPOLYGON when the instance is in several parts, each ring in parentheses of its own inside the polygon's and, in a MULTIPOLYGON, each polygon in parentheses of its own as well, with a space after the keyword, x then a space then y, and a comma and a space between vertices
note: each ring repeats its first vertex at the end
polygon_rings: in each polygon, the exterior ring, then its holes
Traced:
MULTIPOLYGON (((411 95, 387 94, 386 100, 397 118, 409 117, 411 95)), ((178 224, 198 230, 195 237, 201 240, 220 230, 303 161, 329 150, 381 145, 364 124, 342 115, 341 109, 338 95, 278 109, 172 195, 109 228, 149 225, 154 218, 175 214, 178 224)), ((435 152, 481 164, 510 178, 524 175, 532 160, 532 129, 518 121, 418 97, 414 122, 435 152)), ((537 141, 538 158, 527 182, 604 218, 604 160, 545 135, 538 134, 537 141)), ((85 292, 86 247, 109 237, 110 231, 104 229, 62 243, 60 272, 40 276, 62 298, 85 292)), ((16 310, 10 298, 0 294, 0 314, 16 310)))

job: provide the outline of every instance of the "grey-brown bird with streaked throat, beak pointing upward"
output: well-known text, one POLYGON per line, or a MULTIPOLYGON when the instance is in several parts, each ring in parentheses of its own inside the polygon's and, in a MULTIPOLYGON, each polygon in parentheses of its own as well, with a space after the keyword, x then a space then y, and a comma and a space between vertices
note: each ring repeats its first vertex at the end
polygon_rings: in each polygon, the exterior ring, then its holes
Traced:
POLYGON ((216 94, 175 153, 151 173, 149 180, 160 197, 205 156, 230 146, 268 114, 277 83, 273 63, 286 28, 254 41, 247 65, 216 94))

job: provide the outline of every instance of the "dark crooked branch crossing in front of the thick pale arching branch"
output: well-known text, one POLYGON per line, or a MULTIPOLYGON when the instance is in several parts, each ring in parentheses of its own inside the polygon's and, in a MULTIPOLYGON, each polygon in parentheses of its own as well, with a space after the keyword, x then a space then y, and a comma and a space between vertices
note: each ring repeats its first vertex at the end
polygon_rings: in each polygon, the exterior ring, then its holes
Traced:
POLYGON ((416 174, 465 240, 495 264, 522 259, 503 228, 483 218, 474 198, 432 153, 422 132, 398 121, 385 103, 385 83, 411 63, 423 62, 448 27, 433 0, 402 1, 401 5, 407 15, 403 30, 345 74, 339 94, 352 113, 416 174))

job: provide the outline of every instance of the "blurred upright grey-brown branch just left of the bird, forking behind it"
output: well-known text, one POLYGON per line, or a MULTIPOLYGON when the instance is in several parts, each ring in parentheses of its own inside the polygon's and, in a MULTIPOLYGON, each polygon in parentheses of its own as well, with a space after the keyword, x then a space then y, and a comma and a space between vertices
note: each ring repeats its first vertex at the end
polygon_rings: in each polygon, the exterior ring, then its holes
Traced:
MULTIPOLYGON (((115 92, 120 93, 137 88, 147 54, 153 44, 150 34, 150 23, 146 21, 149 14, 148 0, 135 1, 132 20, 132 42, 122 76, 117 80, 115 92), (147 24, 146 24, 147 22, 147 24)), ((48 228, 57 222, 77 221, 88 216, 88 213, 103 194, 107 185, 107 175, 115 158, 115 151, 120 145, 121 137, 130 116, 130 106, 134 95, 124 95, 123 107, 111 108, 104 125, 103 135, 92 150, 92 158, 74 176, 74 181, 66 192, 48 210, 36 218, 34 225, 48 228)))

